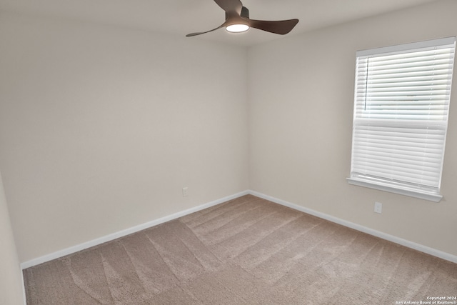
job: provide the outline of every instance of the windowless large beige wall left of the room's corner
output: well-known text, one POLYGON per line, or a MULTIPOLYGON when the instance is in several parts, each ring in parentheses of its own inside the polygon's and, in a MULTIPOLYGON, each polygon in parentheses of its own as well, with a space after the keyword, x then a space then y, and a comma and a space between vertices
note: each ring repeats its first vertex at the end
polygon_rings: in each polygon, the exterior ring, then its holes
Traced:
POLYGON ((248 189, 246 49, 0 20, 0 169, 21 262, 248 189))

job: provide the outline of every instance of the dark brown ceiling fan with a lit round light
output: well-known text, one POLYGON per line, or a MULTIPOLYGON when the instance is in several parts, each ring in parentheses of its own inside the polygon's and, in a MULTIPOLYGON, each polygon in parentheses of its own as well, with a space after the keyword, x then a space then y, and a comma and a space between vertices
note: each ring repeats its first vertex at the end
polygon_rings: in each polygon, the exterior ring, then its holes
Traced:
MULTIPOLYGON (((225 27, 227 31, 239 33, 247 31, 249 28, 254 28, 274 34, 284 35, 290 32, 293 27, 298 24, 298 19, 280 21, 249 19, 249 10, 243 6, 240 0, 214 0, 214 2, 221 6, 221 9, 226 11, 226 21, 224 24, 216 27, 216 29, 225 27)), ((210 31, 216 31, 216 29, 187 34, 186 37, 209 33, 210 31)))

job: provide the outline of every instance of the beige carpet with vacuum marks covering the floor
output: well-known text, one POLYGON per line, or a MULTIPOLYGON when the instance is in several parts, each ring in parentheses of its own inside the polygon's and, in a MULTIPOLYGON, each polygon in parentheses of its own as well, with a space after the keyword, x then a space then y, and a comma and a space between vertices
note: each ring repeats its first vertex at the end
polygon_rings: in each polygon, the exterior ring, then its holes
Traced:
POLYGON ((24 270, 27 304, 403 304, 457 264, 255 196, 24 270), (398 303, 396 303, 398 302, 398 303))

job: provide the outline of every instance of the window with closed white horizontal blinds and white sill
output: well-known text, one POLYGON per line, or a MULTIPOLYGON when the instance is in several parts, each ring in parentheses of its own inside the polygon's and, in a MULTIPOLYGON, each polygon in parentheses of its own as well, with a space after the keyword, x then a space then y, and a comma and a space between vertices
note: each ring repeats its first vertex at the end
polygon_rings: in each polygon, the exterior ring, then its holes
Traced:
POLYGON ((440 201, 456 37, 358 51, 350 184, 440 201))

